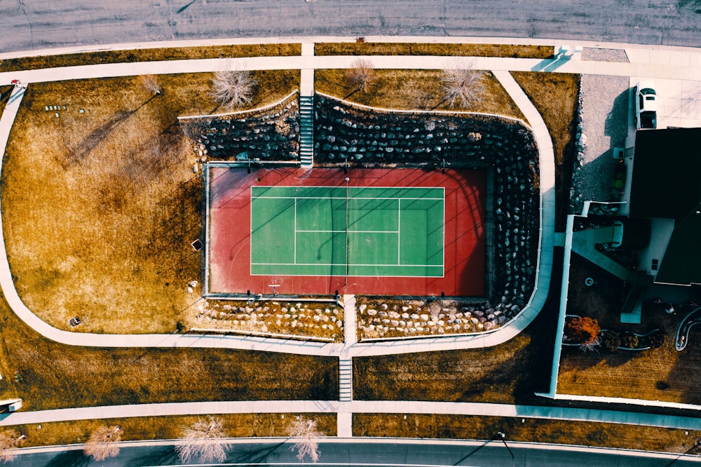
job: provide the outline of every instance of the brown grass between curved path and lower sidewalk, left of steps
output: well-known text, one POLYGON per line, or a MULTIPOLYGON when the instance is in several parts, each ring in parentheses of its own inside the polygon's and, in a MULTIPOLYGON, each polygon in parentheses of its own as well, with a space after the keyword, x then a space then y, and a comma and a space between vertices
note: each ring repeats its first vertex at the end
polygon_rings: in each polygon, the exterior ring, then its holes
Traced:
POLYGON ((20 397, 25 410, 338 398, 337 358, 222 348, 67 346, 29 329, 4 299, 0 331, 0 399, 20 397))

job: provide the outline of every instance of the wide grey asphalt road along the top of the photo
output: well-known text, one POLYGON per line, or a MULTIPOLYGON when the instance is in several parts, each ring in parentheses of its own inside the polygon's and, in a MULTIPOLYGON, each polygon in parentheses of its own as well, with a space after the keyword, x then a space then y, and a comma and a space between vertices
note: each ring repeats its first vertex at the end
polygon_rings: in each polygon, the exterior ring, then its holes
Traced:
POLYGON ((378 34, 701 46, 701 0, 0 0, 0 52, 378 34))

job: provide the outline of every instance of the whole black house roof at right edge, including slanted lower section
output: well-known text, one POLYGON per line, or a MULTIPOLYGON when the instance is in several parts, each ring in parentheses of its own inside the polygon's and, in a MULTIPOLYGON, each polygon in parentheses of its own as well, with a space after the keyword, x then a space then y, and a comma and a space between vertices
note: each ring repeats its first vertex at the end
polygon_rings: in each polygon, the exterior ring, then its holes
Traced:
POLYGON ((656 282, 701 283, 701 128, 635 135, 630 217, 674 219, 656 282))

